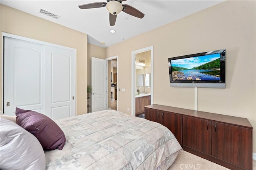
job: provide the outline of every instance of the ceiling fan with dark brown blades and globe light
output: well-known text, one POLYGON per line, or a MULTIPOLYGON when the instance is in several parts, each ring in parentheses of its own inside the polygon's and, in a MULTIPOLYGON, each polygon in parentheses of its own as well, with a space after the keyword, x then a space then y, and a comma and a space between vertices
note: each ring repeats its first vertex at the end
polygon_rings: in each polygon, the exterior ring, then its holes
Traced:
POLYGON ((123 1, 126 1, 126 0, 107 0, 107 2, 94 2, 90 4, 79 5, 78 7, 80 9, 90 9, 90 8, 101 8, 106 6, 107 10, 109 11, 110 26, 115 25, 117 14, 119 14, 121 11, 138 18, 144 17, 144 14, 139 10, 137 10, 136 8, 127 4, 122 5, 123 1))

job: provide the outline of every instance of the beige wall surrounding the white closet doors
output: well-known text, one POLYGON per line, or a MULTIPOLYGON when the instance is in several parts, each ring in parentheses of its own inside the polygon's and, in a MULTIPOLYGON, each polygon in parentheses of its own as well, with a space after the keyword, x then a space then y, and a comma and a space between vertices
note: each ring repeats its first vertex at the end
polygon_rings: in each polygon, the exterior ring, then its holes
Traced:
POLYGON ((1 4, 2 32, 76 49, 76 112, 77 115, 87 112, 86 34, 1 4))

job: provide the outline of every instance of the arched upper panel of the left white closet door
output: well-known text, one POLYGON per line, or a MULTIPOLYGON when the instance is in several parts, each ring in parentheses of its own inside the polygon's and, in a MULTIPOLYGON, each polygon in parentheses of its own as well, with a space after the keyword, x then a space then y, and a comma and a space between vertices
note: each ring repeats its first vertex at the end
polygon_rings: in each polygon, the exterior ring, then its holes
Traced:
POLYGON ((41 65, 40 51, 14 48, 14 105, 41 103, 41 65))

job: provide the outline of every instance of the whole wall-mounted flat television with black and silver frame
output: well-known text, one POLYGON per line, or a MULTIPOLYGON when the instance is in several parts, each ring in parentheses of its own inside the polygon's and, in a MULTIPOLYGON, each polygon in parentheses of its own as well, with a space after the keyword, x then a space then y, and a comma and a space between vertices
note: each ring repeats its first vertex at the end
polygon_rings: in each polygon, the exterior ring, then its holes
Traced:
POLYGON ((170 85, 225 88, 226 49, 168 59, 170 85))

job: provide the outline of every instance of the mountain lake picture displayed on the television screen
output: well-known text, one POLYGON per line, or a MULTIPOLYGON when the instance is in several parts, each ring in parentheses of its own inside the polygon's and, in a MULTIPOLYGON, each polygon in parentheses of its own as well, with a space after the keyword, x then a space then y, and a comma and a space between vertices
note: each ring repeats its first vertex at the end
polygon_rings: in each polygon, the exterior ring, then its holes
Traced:
POLYGON ((220 53, 171 61, 172 81, 220 80, 220 53))

